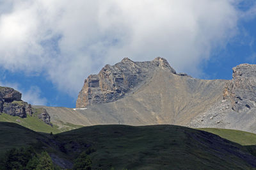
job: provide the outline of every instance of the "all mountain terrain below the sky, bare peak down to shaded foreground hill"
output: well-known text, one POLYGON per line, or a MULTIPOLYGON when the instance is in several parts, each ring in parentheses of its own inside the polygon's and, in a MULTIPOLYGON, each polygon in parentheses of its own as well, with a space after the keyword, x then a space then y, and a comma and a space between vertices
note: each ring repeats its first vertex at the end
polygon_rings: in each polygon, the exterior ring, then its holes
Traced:
POLYGON ((5 153, 29 146, 62 169, 84 154, 92 169, 256 169, 255 77, 256 65, 234 67, 232 80, 202 80, 163 58, 124 58, 88 76, 74 109, 31 106, 1 87, 0 121, 13 123, 0 122, 0 169, 5 153))

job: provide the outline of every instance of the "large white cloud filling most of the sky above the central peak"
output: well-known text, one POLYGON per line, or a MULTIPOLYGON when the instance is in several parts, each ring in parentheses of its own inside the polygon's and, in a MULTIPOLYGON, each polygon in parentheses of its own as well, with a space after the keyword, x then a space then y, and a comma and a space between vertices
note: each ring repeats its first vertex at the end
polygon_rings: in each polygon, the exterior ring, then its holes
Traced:
POLYGON ((123 57, 163 56, 176 70, 198 75, 211 50, 236 34, 241 12, 234 2, 12 1, 0 12, 0 65, 42 73, 74 97, 90 73, 123 57))

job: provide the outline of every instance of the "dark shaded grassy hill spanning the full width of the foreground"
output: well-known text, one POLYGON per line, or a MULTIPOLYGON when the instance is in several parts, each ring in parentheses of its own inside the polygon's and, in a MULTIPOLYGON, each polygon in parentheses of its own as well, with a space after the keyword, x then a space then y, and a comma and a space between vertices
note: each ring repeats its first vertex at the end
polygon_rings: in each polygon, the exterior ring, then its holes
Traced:
POLYGON ((255 148, 248 150, 218 135, 173 125, 98 125, 56 135, 13 123, 1 122, 0 129, 2 154, 13 147, 33 146, 54 154, 58 163, 72 162, 87 151, 93 169, 256 168, 256 157, 251 154, 255 148))

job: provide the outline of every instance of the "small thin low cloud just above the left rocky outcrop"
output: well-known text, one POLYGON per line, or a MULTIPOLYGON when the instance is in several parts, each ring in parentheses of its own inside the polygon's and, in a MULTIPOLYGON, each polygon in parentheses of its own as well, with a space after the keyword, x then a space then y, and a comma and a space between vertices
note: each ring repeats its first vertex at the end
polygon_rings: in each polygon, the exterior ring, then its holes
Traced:
POLYGON ((38 88, 37 86, 31 86, 28 90, 20 88, 20 85, 17 83, 0 82, 0 86, 13 88, 19 91, 20 93, 22 93, 21 99, 31 105, 47 104, 47 99, 40 96, 41 91, 40 88, 38 88))

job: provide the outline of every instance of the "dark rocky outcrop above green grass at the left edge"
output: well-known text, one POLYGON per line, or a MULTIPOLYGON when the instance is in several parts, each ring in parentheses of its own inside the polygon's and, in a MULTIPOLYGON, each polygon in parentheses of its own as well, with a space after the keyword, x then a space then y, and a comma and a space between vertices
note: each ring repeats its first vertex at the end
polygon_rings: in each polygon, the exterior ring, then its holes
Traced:
POLYGON ((6 113, 11 116, 27 118, 36 113, 38 118, 48 125, 51 125, 51 118, 45 109, 33 109, 31 104, 21 100, 22 94, 8 87, 0 87, 0 114, 6 113))

